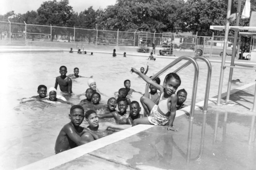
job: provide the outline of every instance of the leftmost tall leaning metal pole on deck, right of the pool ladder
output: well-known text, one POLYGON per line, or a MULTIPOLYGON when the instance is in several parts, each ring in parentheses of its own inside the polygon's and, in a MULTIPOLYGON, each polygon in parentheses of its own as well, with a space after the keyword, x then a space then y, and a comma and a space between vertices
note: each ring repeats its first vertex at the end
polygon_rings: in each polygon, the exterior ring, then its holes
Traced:
MULTIPOLYGON (((227 9, 227 18, 230 17, 230 11, 231 11, 231 0, 228 0, 228 9, 227 9)), ((225 39, 223 44, 223 56, 221 61, 221 75, 220 75, 220 82, 219 82, 219 90, 218 90, 218 97, 217 97, 217 104, 218 106, 221 106, 221 90, 222 90, 222 84, 223 84, 223 76, 224 76, 224 65, 226 60, 226 50, 227 50, 227 41, 229 36, 229 20, 226 19, 226 26, 225 26, 225 39)))

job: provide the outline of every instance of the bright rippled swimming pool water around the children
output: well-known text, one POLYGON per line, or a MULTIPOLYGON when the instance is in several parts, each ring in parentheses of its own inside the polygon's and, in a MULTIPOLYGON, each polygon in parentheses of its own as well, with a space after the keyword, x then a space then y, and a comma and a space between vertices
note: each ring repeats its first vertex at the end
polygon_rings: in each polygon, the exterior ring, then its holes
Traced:
MULTIPOLYGON (((79 75, 91 76, 96 80, 97 88, 106 96, 102 96, 101 102, 106 102, 109 97, 114 96, 114 92, 124 87, 125 79, 131 80, 131 88, 135 91, 144 92, 146 83, 136 74, 130 74, 130 68, 146 67, 149 62, 148 76, 161 70, 173 59, 157 58, 156 61, 146 60, 148 57, 118 55, 113 58, 111 54, 94 53, 91 55, 60 53, 1 53, 1 72, 3 79, 1 84, 1 168, 14 169, 26 164, 30 164, 45 157, 54 155, 54 145, 56 137, 64 124, 69 122, 68 113, 70 105, 59 104, 41 106, 20 106, 20 110, 14 110, 19 106, 19 99, 36 95, 39 84, 44 84, 48 88, 55 84, 56 76, 59 76, 59 68, 65 65, 68 73, 73 73, 73 68, 78 67, 79 75), (3 107, 4 106, 4 107, 3 107)), ((186 61, 184 61, 186 62, 186 61)), ((180 62, 170 71, 160 76, 161 83, 165 75, 174 71, 181 64, 180 62)), ((207 66, 204 62, 199 64, 199 82, 197 90, 197 102, 204 99, 205 84, 207 77, 207 66)), ((221 63, 211 63, 213 68, 210 97, 217 95, 220 76, 221 63)), ((193 86, 193 66, 180 71, 181 88, 188 91, 187 104, 191 101, 193 86)), ((222 92, 227 89, 229 69, 225 70, 222 92)), ((233 79, 240 79, 243 83, 232 85, 232 89, 242 86, 255 80, 254 70, 234 69, 233 79), (246 76, 245 76, 246 75, 246 76)), ((73 95, 69 102, 77 104, 84 97, 77 98, 76 95, 85 92, 88 88, 88 78, 79 78, 73 81, 73 95)), ((59 87, 57 94, 61 94, 59 87)), ((140 95, 135 93, 133 99, 139 100, 140 95)), ((82 124, 86 126, 86 123, 82 124)))

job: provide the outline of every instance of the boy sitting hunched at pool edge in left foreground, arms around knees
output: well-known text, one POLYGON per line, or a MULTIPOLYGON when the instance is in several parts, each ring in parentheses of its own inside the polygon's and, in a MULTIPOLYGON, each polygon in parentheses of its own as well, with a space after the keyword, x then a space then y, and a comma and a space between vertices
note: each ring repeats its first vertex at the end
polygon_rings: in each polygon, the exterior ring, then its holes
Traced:
POLYGON ((70 122, 60 130, 55 143, 56 154, 102 137, 80 126, 84 118, 85 110, 82 106, 74 105, 70 108, 70 122))

